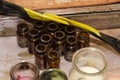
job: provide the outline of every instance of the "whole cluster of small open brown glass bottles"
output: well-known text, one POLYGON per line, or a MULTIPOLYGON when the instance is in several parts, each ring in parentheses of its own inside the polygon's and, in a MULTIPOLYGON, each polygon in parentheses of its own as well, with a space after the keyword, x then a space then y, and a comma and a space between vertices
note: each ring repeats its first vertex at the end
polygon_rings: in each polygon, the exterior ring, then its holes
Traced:
POLYGON ((90 46, 89 33, 55 22, 35 21, 32 29, 26 23, 17 26, 17 42, 21 48, 28 48, 35 55, 40 69, 59 68, 60 57, 71 62, 74 52, 90 46))

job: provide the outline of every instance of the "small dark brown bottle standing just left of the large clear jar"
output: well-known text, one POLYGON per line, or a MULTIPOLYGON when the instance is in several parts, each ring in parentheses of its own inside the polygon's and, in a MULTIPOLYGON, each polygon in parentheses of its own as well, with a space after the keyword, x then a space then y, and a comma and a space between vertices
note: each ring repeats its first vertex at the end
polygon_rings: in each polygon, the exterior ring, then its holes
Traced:
POLYGON ((77 49, 78 49, 77 38, 75 36, 68 36, 66 39, 66 45, 65 45, 65 53, 64 53, 65 60, 71 62, 74 52, 77 49))

